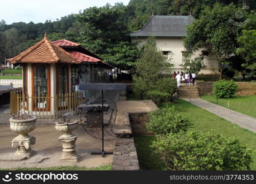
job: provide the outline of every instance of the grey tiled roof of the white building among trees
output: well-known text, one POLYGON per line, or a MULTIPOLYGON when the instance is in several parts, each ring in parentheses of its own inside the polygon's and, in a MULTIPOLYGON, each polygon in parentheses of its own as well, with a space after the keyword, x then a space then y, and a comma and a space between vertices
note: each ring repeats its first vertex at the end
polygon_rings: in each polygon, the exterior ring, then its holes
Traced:
POLYGON ((131 33, 131 36, 184 37, 187 35, 187 25, 194 20, 195 18, 192 16, 152 15, 143 28, 131 33))

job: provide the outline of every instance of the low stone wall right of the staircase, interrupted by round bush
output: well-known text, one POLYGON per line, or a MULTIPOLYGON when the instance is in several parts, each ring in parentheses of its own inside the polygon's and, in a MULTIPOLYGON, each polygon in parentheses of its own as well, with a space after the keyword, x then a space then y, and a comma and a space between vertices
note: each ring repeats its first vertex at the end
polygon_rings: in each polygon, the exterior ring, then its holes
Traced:
MULTIPOLYGON (((196 82, 200 95, 212 94, 212 85, 214 82, 196 82)), ((236 95, 251 96, 256 95, 256 83, 236 82, 238 84, 238 92, 236 95)))

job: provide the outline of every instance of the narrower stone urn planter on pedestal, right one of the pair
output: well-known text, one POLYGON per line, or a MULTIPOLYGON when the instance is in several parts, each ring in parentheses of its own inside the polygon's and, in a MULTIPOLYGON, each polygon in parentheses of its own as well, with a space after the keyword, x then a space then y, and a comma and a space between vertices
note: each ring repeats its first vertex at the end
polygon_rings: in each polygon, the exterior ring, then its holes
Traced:
POLYGON ((70 123, 55 123, 55 129, 57 131, 63 132, 58 140, 62 143, 62 156, 61 161, 78 161, 79 155, 76 153, 76 140, 77 135, 72 134, 72 131, 77 129, 79 126, 79 120, 72 121, 70 123))

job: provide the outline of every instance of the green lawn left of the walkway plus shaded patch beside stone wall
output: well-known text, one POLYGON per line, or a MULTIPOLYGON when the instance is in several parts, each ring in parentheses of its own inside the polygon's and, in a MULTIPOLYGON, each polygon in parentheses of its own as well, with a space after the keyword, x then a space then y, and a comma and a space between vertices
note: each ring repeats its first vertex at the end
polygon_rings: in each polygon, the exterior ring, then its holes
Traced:
MULTIPOLYGON (((252 150, 254 162, 251 164, 251 169, 256 170, 256 134, 254 132, 230 123, 182 99, 179 99, 176 104, 163 104, 161 108, 173 107, 173 105, 177 111, 185 113, 185 115, 193 120, 192 128, 201 131, 217 132, 226 137, 238 138, 247 148, 252 150)), ((139 164, 142 170, 166 170, 165 164, 161 162, 159 156, 155 155, 152 148, 149 147, 154 139, 154 136, 134 137, 139 164)))

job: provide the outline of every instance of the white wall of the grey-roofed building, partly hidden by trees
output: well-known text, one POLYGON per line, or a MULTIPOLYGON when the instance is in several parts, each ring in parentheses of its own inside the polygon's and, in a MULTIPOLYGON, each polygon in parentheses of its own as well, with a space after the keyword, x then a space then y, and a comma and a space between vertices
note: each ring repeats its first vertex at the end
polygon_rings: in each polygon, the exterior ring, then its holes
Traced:
MULTIPOLYGON (((133 39, 134 41, 138 41, 139 44, 146 44, 146 37, 139 37, 133 39)), ((184 40, 182 37, 157 37, 156 39, 157 47, 162 51, 169 52, 168 59, 171 58, 171 63, 174 64, 174 71, 182 71, 182 51, 185 51, 184 40)), ((203 50, 203 49, 201 49, 203 50)), ((199 56, 201 54, 201 50, 196 53, 193 53, 192 58, 199 56)), ((204 67, 201 69, 200 74, 219 74, 219 67, 217 61, 214 59, 214 55, 209 52, 208 56, 204 56, 204 67)))

